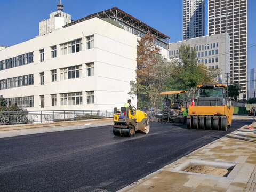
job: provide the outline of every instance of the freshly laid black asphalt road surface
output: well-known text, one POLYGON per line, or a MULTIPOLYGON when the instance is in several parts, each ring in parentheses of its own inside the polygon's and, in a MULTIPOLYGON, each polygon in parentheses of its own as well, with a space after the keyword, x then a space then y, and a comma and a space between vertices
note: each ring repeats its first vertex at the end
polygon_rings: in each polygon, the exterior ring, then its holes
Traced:
POLYGON ((151 122, 148 134, 116 137, 112 126, 0 139, 0 191, 117 191, 228 131, 151 122))

